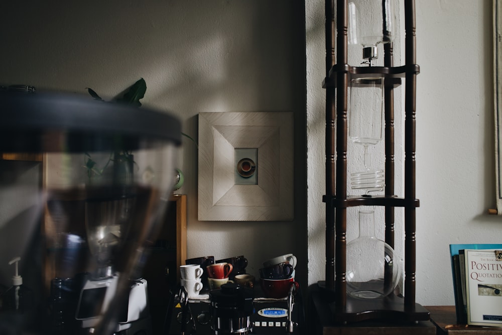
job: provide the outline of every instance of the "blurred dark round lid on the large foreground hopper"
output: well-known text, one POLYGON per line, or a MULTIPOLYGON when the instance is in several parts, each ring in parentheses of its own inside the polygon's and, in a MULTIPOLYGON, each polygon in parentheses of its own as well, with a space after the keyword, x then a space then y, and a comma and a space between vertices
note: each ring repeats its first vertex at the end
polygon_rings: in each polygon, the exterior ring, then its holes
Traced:
POLYGON ((181 144, 169 114, 71 94, 0 92, 0 152, 82 152, 181 144))

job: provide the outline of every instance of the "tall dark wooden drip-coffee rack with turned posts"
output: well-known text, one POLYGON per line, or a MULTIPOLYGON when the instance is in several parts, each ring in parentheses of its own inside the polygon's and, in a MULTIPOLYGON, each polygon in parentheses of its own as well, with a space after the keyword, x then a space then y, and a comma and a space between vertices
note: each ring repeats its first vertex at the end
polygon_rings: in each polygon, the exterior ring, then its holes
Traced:
MULTIPOLYGON (((327 0, 326 12, 326 278, 319 282, 323 303, 332 321, 346 324, 364 320, 397 319, 418 323, 430 319, 429 312, 415 302, 416 208, 415 196, 415 111, 416 64, 415 2, 404 0, 405 65, 394 67, 393 44, 384 46, 384 66, 354 67, 347 64, 347 0, 327 0), (335 50, 336 34, 336 58, 335 50), (347 86, 355 77, 379 74, 385 77, 385 195, 347 196, 347 86), (395 194, 394 88, 405 79, 404 196, 395 194), (335 138, 336 136, 336 138, 335 138), (336 167, 336 169, 335 169, 336 167), (336 173, 335 173, 336 171, 336 173), (381 299, 355 299, 346 294, 347 208, 385 207, 385 242, 394 248, 394 211, 404 208, 405 255, 404 298, 391 294, 381 299), (336 256, 336 257, 335 257, 336 256), (326 298, 329 297, 329 298, 326 298)), ((426 327, 429 329, 430 327, 426 327)))

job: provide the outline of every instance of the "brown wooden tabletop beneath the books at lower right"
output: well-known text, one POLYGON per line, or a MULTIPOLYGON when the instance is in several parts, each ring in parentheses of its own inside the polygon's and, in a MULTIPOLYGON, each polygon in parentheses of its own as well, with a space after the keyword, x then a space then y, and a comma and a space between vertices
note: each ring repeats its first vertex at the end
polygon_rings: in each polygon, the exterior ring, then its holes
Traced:
POLYGON ((456 324, 455 306, 424 306, 431 313, 438 335, 500 335, 500 327, 456 324))

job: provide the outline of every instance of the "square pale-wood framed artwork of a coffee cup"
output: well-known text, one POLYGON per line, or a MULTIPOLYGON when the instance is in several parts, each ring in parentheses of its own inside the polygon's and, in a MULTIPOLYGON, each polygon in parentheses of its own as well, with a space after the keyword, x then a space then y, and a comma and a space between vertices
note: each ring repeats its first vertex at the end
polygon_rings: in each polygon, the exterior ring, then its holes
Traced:
POLYGON ((293 113, 199 113, 198 219, 293 219, 293 113))

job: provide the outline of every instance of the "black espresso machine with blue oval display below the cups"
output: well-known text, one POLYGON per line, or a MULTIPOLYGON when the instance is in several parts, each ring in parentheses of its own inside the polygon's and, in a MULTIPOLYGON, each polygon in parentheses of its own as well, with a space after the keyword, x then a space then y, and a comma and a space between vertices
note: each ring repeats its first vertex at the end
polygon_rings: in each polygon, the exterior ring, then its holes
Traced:
POLYGON ((203 291, 201 299, 187 299, 180 291, 173 298, 167 334, 304 334, 305 317, 301 293, 292 285, 282 299, 264 298, 253 289, 227 283, 221 289, 203 291), (207 297, 209 293, 210 298, 207 297), (250 299, 254 296, 253 299, 250 299))

